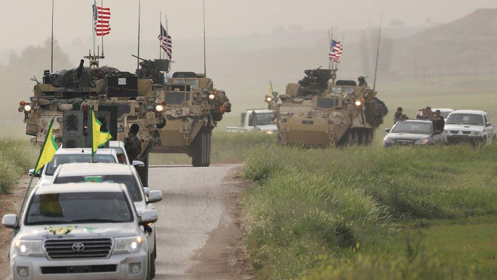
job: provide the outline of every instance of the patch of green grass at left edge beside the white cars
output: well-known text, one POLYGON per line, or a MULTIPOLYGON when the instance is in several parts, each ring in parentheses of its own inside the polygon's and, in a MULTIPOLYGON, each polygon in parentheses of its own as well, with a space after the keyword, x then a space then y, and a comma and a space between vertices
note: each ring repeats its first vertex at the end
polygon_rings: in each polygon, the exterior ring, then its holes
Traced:
POLYGON ((19 176, 34 166, 34 149, 28 141, 0 139, 0 194, 8 192, 19 176))

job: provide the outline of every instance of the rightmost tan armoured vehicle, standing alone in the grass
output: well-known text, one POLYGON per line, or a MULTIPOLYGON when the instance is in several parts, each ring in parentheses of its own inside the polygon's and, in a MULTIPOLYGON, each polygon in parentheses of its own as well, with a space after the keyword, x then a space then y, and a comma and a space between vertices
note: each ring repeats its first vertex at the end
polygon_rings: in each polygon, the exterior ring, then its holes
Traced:
POLYGON ((364 77, 360 77, 359 85, 355 81, 335 82, 336 71, 306 70, 306 77, 298 84, 288 84, 285 94, 266 95, 269 109, 277 112, 274 122, 280 143, 309 147, 371 145, 388 109, 364 77))

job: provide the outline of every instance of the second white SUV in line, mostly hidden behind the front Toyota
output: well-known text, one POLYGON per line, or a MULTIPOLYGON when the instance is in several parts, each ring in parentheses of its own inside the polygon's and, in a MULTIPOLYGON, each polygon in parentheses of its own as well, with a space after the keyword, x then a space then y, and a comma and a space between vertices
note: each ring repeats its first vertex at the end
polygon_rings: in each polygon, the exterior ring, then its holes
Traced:
MULTIPOLYGON (((70 163, 61 165, 53 174, 51 184, 67 183, 119 183, 124 184, 133 200, 138 216, 145 210, 155 209, 153 204, 162 200, 161 191, 151 191, 143 186, 136 169, 131 165, 108 163, 70 163)), ((150 258, 150 275, 155 276, 155 223, 147 224, 147 242, 153 248, 150 258)))

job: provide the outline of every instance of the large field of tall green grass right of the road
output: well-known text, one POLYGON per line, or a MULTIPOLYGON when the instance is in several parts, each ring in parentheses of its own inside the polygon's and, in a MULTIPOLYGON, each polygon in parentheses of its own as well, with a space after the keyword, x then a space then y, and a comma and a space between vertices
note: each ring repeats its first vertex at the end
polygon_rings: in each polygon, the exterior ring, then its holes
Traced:
POLYGON ((244 173, 261 278, 494 277, 497 145, 262 145, 244 173))

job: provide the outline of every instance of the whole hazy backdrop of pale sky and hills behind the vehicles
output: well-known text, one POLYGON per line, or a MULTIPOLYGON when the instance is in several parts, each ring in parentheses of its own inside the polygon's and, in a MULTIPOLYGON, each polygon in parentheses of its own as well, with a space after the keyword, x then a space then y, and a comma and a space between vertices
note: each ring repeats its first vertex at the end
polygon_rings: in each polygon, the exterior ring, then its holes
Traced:
MULTIPOLYGON (((73 68, 93 47, 93 1, 54 3, 54 70, 73 68)), ((264 107, 262 96, 269 80, 275 90, 284 92, 287 83, 303 76, 303 70, 328 67, 328 29, 332 27, 333 38, 343 40, 344 45, 339 79, 365 75, 372 84, 380 14, 378 91, 394 94, 389 83, 406 80, 435 86, 453 81, 463 88, 497 91, 497 3, 493 0, 233 3, 205 2, 207 75, 216 88, 226 90, 234 109, 223 125, 236 123, 238 113, 246 108, 264 107), (467 80, 472 82, 461 82, 467 80)), ((50 69, 51 1, 24 0, 10 6, 0 11, 4 27, 0 109, 2 124, 7 120, 21 125, 17 106, 31 95, 34 82, 30 78, 41 79, 43 70, 50 69)), ((103 6, 111 8, 112 31, 104 37, 106 58, 100 65, 134 72, 136 60, 131 54, 137 53, 138 1, 105 0, 103 6)), ((140 56, 153 59, 159 55, 159 11, 163 23, 167 14, 173 37, 171 71, 203 72, 201 1, 143 0, 140 56)))

